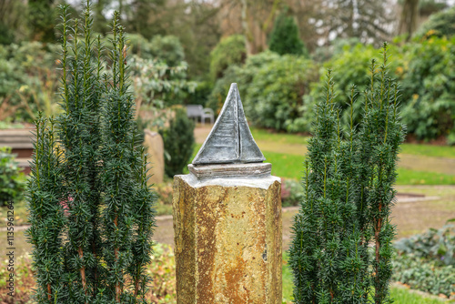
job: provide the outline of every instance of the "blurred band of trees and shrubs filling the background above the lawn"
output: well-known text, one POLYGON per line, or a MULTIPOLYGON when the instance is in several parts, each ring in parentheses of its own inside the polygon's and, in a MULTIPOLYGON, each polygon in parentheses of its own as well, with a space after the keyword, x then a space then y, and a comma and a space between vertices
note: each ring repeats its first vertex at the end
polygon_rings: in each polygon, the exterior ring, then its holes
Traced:
MULTIPOLYGON (((31 122, 58 111, 58 5, 76 0, 0 1, 0 120, 31 122)), ((94 0, 94 28, 109 43, 112 12, 129 33, 131 89, 142 127, 168 125, 171 106, 223 105, 239 84, 248 121, 307 133, 325 70, 334 67, 338 106, 359 98, 369 58, 391 42, 412 140, 455 144, 455 7, 444 0, 94 0)), ((341 113, 343 117, 345 113, 341 113)))

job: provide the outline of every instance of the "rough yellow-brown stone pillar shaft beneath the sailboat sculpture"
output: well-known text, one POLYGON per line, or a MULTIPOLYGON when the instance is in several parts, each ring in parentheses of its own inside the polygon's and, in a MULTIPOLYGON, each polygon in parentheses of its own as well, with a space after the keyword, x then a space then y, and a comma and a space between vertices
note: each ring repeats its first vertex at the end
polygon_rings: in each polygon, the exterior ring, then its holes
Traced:
POLYGON ((281 303, 278 178, 251 187, 186 177, 174 180, 177 303, 281 303))

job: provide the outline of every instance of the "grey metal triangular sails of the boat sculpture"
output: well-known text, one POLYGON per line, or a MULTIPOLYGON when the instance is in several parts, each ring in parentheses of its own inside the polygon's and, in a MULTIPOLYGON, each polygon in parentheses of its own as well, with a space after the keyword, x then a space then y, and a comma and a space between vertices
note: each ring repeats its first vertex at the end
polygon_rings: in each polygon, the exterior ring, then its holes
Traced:
POLYGON ((249 131, 237 84, 232 84, 219 117, 193 165, 258 163, 266 160, 249 131))

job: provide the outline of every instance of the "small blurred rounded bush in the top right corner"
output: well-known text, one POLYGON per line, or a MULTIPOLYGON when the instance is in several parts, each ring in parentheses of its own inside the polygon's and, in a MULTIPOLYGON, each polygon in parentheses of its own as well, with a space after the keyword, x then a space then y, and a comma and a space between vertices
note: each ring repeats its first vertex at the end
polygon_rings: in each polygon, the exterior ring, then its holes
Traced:
POLYGON ((432 35, 450 37, 455 34, 455 7, 450 7, 430 15, 414 34, 417 38, 428 38, 432 35))

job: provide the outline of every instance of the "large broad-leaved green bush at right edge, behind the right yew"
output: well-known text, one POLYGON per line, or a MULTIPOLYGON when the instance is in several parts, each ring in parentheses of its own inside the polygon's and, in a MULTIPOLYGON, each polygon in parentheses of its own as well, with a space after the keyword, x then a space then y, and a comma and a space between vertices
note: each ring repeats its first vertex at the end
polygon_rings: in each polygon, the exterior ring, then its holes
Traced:
POLYGON ((410 46, 402 80, 403 122, 418 139, 455 143, 455 37, 410 46))

